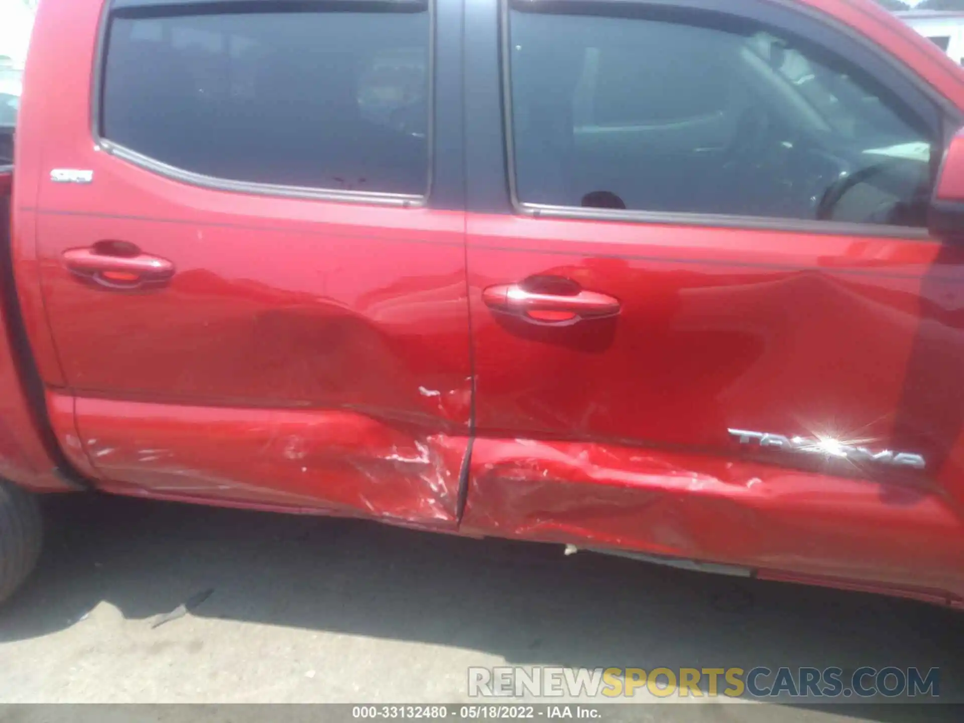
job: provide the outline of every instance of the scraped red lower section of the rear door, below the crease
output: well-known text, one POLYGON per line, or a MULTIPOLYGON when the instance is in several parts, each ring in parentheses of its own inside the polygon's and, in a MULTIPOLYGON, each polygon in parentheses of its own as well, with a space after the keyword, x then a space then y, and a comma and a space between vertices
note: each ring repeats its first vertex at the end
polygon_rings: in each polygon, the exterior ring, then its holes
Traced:
POLYGON ((454 527, 467 437, 343 410, 185 407, 80 397, 115 488, 454 527))

